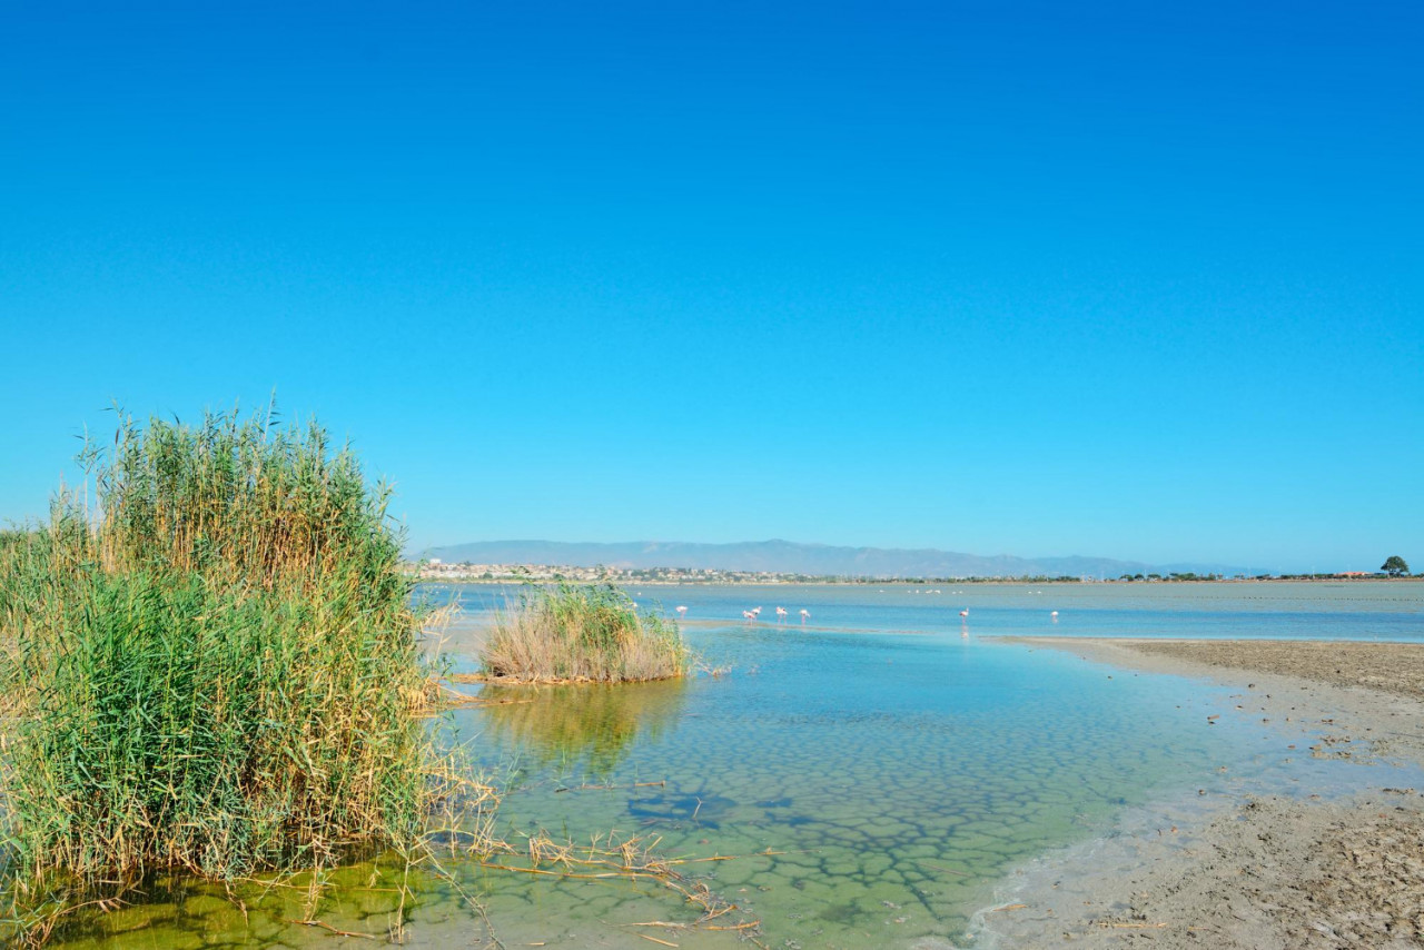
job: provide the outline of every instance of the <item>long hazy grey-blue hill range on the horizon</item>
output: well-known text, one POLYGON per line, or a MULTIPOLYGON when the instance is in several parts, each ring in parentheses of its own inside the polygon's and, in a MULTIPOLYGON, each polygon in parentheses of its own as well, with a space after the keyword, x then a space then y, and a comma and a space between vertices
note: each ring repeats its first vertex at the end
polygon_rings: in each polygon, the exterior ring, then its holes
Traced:
POLYGON ((1142 564, 1106 557, 1024 558, 958 554, 934 548, 833 547, 793 541, 695 544, 688 541, 471 541, 433 547, 423 557, 473 564, 562 564, 622 568, 691 567, 723 571, 778 571, 816 577, 1119 577, 1122 574, 1259 574, 1230 564, 1142 564))

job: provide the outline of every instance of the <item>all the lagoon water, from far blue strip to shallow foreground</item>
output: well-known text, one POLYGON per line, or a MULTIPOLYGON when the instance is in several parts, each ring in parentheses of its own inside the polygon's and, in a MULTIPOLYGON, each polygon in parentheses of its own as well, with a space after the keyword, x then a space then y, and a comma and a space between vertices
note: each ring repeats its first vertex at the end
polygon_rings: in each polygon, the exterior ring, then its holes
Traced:
MULTIPOLYGON (((450 645, 473 649, 497 588, 460 594, 450 645)), ((1227 782, 1346 790, 1364 766, 1300 759, 1245 718, 1206 726, 1199 684, 1115 671, 985 634, 1424 640, 1424 584, 970 585, 646 588, 688 607, 691 641, 719 677, 686 682, 488 689, 500 705, 454 725, 483 762, 508 769, 498 822, 659 839, 658 852, 760 922, 768 947, 933 947, 1008 867, 1105 829, 1122 809, 1227 782), (916 593, 940 590, 943 593, 916 593), (881 593, 883 591, 883 593, 881 593), (1042 593, 1038 593, 1042 591, 1042 593), (743 610, 762 605, 748 624, 743 610), (785 624, 773 608, 790 611, 785 624), (797 611, 810 618, 803 627, 797 611), (968 610, 961 621, 958 611, 968 610), (1058 611, 1054 621, 1049 611, 1058 611), (1290 758, 1292 762, 1286 762, 1290 758)), ((466 661, 468 664, 468 661, 466 661)), ((1293 739, 1292 739, 1293 741, 1293 739)), ((400 909, 390 867, 339 873, 316 916, 412 946, 480 946, 480 894, 506 946, 738 946, 654 882, 531 879, 449 862, 417 875, 400 909), (382 876, 384 875, 384 876, 382 876), (397 913, 397 909, 400 912, 397 913), (642 934, 642 936, 639 936, 642 934), (655 944, 656 946, 656 944, 655 944)), ((181 884, 66 946, 275 947, 328 943, 289 923, 300 894, 249 900, 181 884), (125 916, 127 914, 127 916, 125 916), (122 929, 122 933, 115 933, 122 929)))

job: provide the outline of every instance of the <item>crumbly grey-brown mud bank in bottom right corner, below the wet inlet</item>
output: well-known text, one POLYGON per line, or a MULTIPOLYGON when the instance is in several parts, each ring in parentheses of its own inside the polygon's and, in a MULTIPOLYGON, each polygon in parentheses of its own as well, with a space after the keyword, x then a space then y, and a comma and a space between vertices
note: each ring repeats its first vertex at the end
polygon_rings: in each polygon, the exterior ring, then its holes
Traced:
POLYGON ((1424 798, 1257 798, 1200 828, 1143 818, 1030 865, 975 930, 988 947, 1418 947, 1424 798))

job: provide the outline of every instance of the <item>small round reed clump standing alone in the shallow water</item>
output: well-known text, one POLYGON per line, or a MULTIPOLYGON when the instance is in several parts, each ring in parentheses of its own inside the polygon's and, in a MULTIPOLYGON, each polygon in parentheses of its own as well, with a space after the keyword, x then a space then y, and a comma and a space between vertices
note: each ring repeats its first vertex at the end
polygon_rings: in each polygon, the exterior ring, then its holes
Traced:
POLYGON ((644 682, 685 677, 692 654, 676 622, 639 612, 612 585, 527 593, 498 617, 480 651, 498 682, 644 682))

